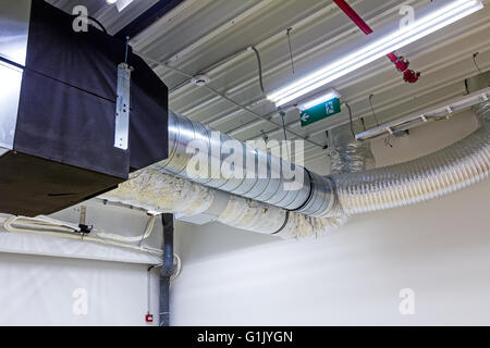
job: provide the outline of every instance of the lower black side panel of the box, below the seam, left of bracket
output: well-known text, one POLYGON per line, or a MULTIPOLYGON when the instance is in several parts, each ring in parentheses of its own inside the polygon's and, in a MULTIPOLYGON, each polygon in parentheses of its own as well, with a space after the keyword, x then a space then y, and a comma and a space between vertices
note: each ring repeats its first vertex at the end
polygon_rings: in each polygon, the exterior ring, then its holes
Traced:
POLYGON ((114 148, 113 102, 25 71, 14 150, 126 178, 127 151, 114 148))

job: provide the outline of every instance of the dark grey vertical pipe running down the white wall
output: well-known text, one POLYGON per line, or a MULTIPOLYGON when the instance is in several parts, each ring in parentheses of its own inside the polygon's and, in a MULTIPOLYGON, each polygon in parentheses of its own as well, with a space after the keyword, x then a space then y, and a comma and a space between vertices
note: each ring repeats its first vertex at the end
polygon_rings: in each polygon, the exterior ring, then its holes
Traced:
POLYGON ((160 326, 170 326, 170 277, 173 272, 173 214, 162 214, 163 262, 160 270, 160 326))

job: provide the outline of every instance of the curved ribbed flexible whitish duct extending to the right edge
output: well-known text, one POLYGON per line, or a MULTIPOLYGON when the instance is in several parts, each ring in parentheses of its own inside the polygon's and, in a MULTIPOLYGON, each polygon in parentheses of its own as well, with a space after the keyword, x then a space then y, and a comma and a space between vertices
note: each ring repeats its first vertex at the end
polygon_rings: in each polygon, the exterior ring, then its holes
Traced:
POLYGON ((387 167, 330 175, 336 201, 324 216, 413 204, 486 179, 490 175, 488 107, 489 101, 477 110, 478 130, 436 153, 387 167))

